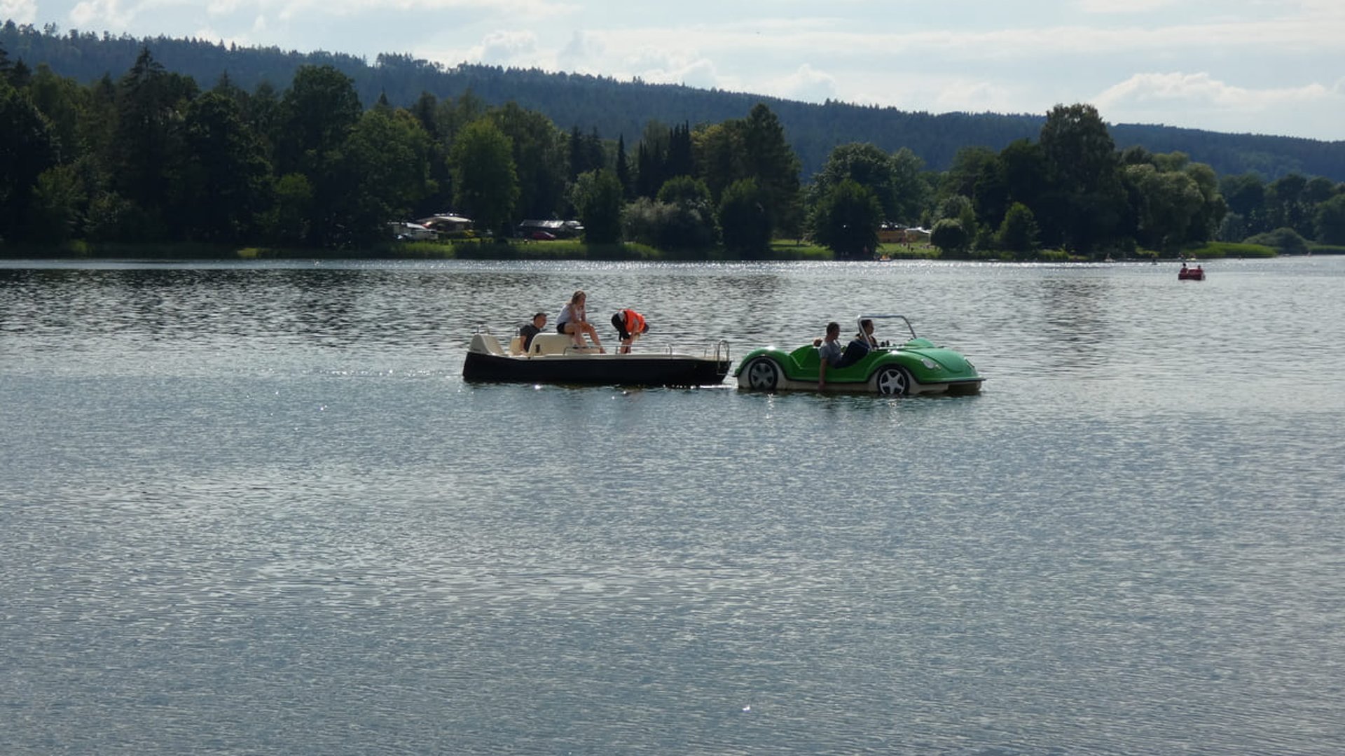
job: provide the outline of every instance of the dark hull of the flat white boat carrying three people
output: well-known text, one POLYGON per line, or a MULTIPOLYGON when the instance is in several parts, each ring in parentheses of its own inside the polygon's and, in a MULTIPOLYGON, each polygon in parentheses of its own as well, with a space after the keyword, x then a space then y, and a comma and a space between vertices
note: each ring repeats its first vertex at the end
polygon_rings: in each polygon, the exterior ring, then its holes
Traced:
POLYGON ((468 351, 463 378, 514 383, 597 386, 713 386, 730 361, 675 354, 502 356, 468 351))

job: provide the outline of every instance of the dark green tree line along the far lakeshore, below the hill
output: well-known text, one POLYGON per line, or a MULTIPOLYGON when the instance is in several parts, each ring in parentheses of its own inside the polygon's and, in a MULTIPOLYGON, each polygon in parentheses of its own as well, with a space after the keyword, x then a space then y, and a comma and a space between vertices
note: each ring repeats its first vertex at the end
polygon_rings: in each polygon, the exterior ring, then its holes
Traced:
MULTIPOLYGON (((1345 243, 1345 191, 1323 178, 1220 179, 1180 152, 1118 149, 1087 105, 1036 140, 963 147, 946 171, 909 148, 835 147, 807 186, 764 102, 718 122, 644 124, 628 148, 467 91, 364 108, 334 66, 289 86, 221 77, 202 90, 143 47, 91 85, 0 47, 0 239, 199 241, 360 248, 391 219, 452 210, 507 237, 525 218, 578 218, 586 241, 765 257, 811 238, 842 258, 882 225, 932 229, 950 254, 1166 250, 1272 234, 1345 243)), ((1297 239, 1297 242, 1294 241, 1297 239)))

